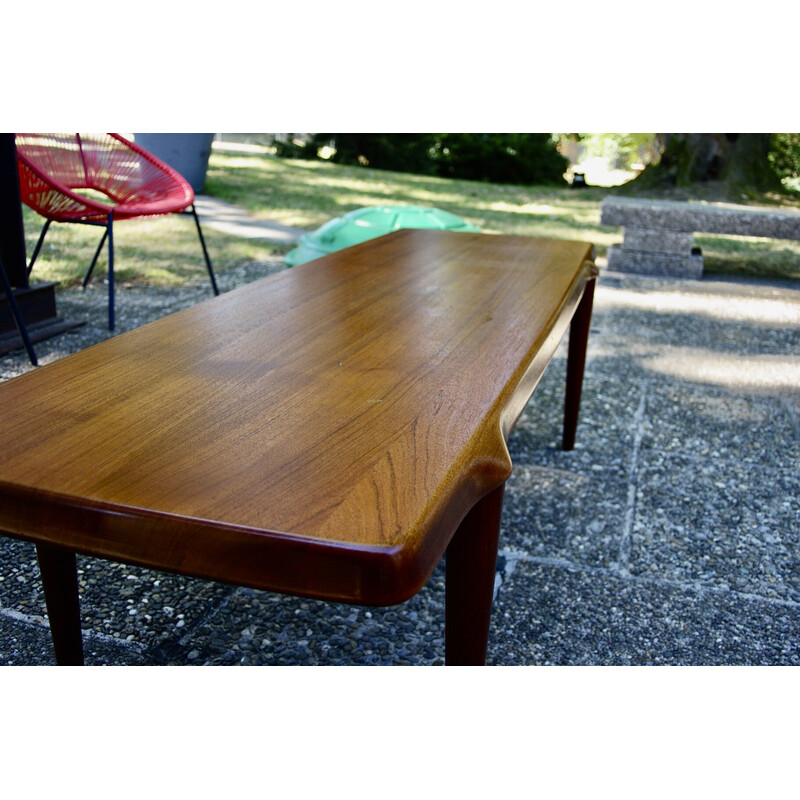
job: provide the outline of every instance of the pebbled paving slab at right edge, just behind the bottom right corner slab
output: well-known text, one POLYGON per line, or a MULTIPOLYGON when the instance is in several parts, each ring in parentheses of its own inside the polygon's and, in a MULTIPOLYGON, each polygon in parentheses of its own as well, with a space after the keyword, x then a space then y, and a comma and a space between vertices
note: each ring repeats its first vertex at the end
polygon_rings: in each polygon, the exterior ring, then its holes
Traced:
POLYGON ((798 552, 797 472, 652 451, 642 458, 632 575, 800 601, 798 552))

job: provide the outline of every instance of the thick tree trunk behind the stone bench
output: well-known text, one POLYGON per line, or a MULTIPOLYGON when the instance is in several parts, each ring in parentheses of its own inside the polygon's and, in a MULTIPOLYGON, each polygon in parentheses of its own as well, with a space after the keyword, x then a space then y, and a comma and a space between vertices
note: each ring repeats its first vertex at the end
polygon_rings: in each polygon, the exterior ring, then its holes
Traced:
POLYGON ((659 133, 661 160, 628 184, 632 192, 715 181, 732 197, 782 191, 767 155, 771 133, 659 133))

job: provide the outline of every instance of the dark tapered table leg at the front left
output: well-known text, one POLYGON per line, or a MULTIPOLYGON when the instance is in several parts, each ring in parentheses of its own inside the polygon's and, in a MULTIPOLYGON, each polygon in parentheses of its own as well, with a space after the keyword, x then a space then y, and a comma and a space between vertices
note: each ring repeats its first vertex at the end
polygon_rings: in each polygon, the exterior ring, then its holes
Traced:
POLYGON ((75 553, 49 544, 37 544, 50 634, 59 666, 83 665, 78 570, 75 553))

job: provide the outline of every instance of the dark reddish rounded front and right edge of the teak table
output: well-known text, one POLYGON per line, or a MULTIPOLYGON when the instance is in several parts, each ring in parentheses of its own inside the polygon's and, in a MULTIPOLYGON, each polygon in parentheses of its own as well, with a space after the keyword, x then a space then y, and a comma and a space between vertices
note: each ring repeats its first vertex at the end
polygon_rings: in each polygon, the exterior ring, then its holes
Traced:
POLYGON ((506 439, 563 338, 586 285, 598 275, 590 258, 592 246, 586 246, 587 257, 542 337, 498 396, 487 424, 476 430, 483 441, 465 445, 467 456, 452 466, 451 490, 430 498, 403 544, 317 539, 99 500, 79 503, 66 494, 2 481, 0 528, 13 538, 201 579, 346 603, 403 602, 428 580, 470 508, 511 474, 506 439), (161 540, 159 546, 148 547, 154 537, 161 540), (159 557, 165 552, 169 557, 159 557), (216 560, 209 558, 212 553, 216 560))

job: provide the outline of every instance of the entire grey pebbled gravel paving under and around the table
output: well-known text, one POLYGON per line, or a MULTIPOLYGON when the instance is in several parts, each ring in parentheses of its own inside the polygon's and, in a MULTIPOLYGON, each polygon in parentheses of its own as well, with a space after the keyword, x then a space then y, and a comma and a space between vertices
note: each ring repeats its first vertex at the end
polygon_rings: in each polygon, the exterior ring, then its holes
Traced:
MULTIPOLYGON (((283 268, 251 263, 225 291, 283 268)), ((120 287, 122 332, 207 283, 120 287)), ((106 293, 59 292, 108 336, 106 293)), ((558 449, 565 348, 509 441, 491 665, 800 664, 800 289, 601 275, 576 449, 558 449)), ((0 378, 30 369, 0 359, 0 378)), ((53 663, 33 547, 0 539, 0 663, 53 663)), ((444 574, 369 609, 80 558, 88 664, 439 665, 444 574)))

